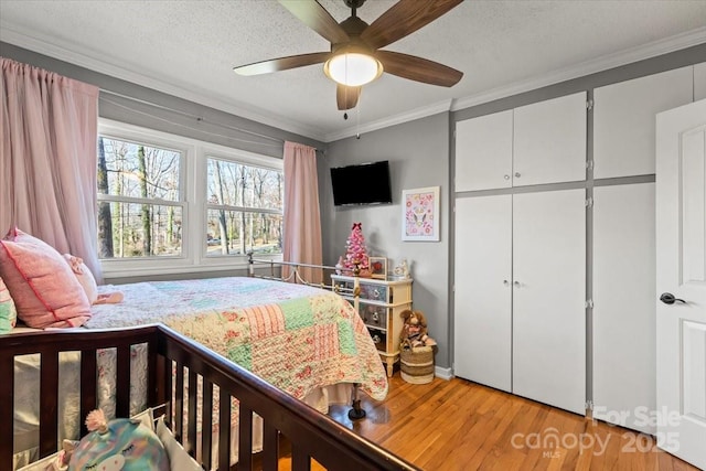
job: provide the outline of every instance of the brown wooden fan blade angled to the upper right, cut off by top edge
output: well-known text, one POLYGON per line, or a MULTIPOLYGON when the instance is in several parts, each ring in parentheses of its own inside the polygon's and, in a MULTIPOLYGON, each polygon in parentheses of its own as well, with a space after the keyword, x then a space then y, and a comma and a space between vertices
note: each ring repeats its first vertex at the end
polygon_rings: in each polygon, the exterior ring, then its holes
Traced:
POLYGON ((463 0, 399 0, 361 33, 373 49, 384 47, 431 23, 463 0))

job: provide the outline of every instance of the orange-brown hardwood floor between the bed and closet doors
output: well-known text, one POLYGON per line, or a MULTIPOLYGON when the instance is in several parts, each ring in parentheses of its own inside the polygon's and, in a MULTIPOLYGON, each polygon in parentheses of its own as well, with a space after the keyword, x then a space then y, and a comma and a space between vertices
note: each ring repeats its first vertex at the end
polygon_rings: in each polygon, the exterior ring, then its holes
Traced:
POLYGON ((340 424, 425 470, 668 470, 696 468, 659 450, 652 437, 463 379, 404 382, 382 402, 363 396, 367 417, 340 424))

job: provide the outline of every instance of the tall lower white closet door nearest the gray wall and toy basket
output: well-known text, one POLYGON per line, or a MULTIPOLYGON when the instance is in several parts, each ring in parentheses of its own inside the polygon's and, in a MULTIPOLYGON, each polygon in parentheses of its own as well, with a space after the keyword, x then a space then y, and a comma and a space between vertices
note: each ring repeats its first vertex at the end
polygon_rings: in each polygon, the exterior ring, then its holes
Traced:
POLYGON ((453 373, 511 390, 512 196, 456 200, 453 373))

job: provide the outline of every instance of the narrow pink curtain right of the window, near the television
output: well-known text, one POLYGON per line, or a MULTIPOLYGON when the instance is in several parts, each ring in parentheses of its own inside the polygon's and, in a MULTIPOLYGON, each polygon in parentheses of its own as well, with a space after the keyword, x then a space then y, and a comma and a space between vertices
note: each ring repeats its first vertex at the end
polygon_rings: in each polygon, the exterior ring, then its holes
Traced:
MULTIPOLYGON (((285 142, 285 261, 321 265, 321 215, 317 150, 285 142)), ((309 282, 322 281, 321 269, 301 269, 309 282)), ((289 270, 282 270, 287 277, 289 270)))

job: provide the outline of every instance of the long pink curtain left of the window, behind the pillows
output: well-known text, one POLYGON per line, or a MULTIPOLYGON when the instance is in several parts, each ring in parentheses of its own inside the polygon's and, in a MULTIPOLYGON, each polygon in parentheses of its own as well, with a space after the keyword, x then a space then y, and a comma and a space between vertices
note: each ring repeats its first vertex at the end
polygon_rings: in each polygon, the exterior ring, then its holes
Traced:
POLYGON ((0 236, 13 226, 84 259, 97 255, 98 88, 0 57, 0 236))

